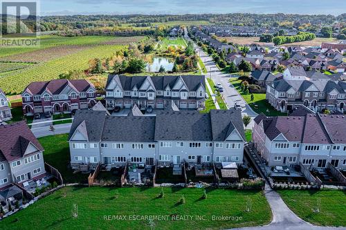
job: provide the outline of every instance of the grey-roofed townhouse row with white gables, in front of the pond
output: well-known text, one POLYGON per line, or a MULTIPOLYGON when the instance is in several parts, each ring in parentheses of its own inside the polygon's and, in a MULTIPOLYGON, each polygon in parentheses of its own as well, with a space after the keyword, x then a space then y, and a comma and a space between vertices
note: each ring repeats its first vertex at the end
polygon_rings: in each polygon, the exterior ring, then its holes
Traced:
POLYGON ((134 76, 109 75, 106 85, 106 108, 165 108, 172 102, 179 108, 204 106, 204 76, 134 76))

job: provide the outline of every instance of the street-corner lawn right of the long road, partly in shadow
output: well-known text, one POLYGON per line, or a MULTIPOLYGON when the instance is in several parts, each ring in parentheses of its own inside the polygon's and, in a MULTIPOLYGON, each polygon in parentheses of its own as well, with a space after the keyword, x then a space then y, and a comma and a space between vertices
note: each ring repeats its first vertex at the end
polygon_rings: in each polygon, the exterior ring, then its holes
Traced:
POLYGON ((237 79, 236 77, 232 77, 232 78, 230 78, 230 83, 233 84, 233 86, 235 86, 235 88, 240 93, 240 95, 242 95, 242 97, 244 97, 246 103, 248 103, 251 106, 251 108, 253 109, 253 111, 255 111, 256 113, 264 113, 267 116, 285 116, 285 115, 287 115, 287 113, 280 113, 279 111, 276 111, 275 108, 273 108, 273 106, 268 104, 268 102, 266 102, 266 94, 265 93, 254 93, 253 94, 254 99, 253 99, 253 101, 251 101, 251 94, 246 95, 245 93, 242 92, 242 89, 241 89, 242 81, 241 80, 237 79), (257 105, 258 108, 255 108, 255 105, 257 105), (267 113, 267 110, 269 111, 269 113, 267 113))

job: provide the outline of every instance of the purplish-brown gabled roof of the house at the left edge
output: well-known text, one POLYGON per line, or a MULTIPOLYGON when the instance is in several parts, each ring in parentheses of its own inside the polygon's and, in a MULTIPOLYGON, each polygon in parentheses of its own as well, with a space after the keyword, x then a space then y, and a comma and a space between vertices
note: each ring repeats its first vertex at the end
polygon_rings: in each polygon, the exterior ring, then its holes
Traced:
POLYGON ((30 143, 36 146, 39 151, 44 151, 26 122, 0 125, 0 140, 0 155, 2 154, 0 158, 8 162, 23 157, 30 143))

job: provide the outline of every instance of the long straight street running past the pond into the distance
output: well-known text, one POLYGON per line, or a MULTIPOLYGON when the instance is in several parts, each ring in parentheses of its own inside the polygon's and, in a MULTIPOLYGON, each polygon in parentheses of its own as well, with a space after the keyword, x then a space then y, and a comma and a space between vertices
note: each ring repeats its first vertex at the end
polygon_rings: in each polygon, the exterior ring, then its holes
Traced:
POLYGON ((203 50, 199 48, 199 46, 195 45, 195 48, 199 57, 201 57, 201 60, 206 66, 206 69, 208 70, 208 74, 206 75, 206 77, 213 79, 215 84, 219 83, 224 88, 224 92, 222 93, 222 95, 224 96, 224 100, 228 108, 233 108, 235 104, 237 104, 242 107, 242 115, 248 115, 251 117, 251 123, 247 128, 252 129, 254 125, 253 119, 258 114, 255 113, 255 111, 253 111, 252 108, 245 102, 243 97, 239 95, 233 84, 230 84, 230 82, 228 82, 231 75, 221 73, 219 68, 217 68, 217 66, 215 65, 215 62, 212 60, 212 57, 209 57, 208 54, 203 52, 203 50))

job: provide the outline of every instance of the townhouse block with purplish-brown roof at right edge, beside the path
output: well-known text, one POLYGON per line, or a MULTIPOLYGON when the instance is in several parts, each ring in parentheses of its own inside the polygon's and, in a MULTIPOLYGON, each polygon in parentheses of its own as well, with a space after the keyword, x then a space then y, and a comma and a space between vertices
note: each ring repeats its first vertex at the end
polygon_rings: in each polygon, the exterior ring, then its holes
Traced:
POLYGON ((268 166, 346 169, 346 117, 304 116, 255 118, 253 143, 268 166))

